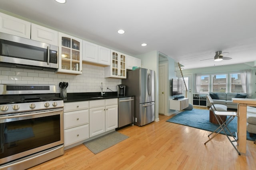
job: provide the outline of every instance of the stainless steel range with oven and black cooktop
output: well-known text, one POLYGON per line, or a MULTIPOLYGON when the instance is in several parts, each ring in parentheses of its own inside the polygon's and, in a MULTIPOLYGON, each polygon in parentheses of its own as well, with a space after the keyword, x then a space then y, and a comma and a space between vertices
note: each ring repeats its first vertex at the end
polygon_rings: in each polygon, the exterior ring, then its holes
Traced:
POLYGON ((0 170, 64 154, 63 107, 55 85, 0 84, 0 170))

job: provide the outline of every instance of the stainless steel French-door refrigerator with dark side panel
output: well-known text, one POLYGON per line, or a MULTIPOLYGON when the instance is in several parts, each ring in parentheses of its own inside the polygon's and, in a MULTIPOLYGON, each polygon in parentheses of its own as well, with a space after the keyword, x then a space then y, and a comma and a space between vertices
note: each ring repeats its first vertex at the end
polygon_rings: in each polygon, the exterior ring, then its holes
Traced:
POLYGON ((122 84, 126 85, 126 95, 134 96, 134 124, 146 125, 155 119, 154 70, 140 68, 130 70, 122 84))

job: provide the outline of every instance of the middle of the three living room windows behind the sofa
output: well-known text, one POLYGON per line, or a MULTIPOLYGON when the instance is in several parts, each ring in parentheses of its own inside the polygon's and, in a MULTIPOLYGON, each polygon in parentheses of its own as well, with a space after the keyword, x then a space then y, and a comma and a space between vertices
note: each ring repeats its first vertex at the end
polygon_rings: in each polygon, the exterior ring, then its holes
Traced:
POLYGON ((212 75, 212 92, 226 92, 227 74, 212 75))

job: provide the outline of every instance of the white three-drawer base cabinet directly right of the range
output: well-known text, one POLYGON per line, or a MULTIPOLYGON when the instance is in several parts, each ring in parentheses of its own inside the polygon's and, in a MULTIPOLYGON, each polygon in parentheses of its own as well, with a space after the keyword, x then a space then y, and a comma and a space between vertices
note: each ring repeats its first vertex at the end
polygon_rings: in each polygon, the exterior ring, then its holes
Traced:
POLYGON ((64 147, 89 138, 89 102, 64 103, 64 147))

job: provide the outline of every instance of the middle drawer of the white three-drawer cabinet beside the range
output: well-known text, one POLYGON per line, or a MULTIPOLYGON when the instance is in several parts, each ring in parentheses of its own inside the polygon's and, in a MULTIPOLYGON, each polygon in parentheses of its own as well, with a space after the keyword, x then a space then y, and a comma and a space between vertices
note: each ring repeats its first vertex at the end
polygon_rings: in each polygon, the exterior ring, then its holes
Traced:
POLYGON ((64 129, 89 123, 89 109, 64 113, 64 129))

